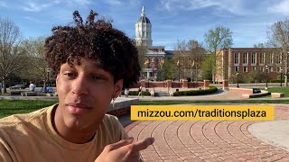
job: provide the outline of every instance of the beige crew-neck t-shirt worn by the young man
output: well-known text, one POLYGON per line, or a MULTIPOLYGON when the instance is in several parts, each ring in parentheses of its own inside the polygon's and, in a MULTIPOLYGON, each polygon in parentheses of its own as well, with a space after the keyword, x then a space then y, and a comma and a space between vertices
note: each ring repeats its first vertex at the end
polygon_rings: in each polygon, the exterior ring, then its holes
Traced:
POLYGON ((57 104, 1 119, 0 161, 90 162, 108 144, 128 138, 117 117, 106 114, 94 139, 85 144, 71 143, 52 127, 51 112, 56 107, 57 104))

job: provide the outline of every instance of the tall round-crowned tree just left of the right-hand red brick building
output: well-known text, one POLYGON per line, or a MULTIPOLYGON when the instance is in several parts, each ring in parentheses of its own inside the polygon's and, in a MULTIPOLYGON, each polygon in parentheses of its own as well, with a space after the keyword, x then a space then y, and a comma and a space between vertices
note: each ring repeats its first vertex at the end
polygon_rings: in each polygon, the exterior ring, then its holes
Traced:
MULTIPOLYGON (((204 35, 204 40, 207 44, 208 51, 213 55, 212 65, 212 79, 213 83, 216 82, 217 74, 217 60, 219 59, 218 49, 228 49, 233 44, 232 32, 223 26, 217 26, 215 29, 210 29, 204 35)), ((222 66, 218 66, 222 67, 222 66)), ((223 69, 219 69, 222 71, 223 69)))

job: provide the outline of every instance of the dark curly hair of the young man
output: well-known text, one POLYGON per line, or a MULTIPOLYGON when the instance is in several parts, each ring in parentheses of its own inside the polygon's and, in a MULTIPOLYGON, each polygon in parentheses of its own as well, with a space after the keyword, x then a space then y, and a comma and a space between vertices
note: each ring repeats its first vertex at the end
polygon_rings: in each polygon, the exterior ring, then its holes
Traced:
POLYGON ((90 11, 83 23, 79 12, 75 11, 75 25, 52 28, 52 35, 44 44, 49 66, 58 74, 62 64, 69 63, 73 67, 75 60, 80 64, 81 58, 89 57, 112 74, 115 83, 124 79, 124 87, 134 85, 141 69, 134 41, 103 19, 95 22, 96 16, 97 13, 90 11))

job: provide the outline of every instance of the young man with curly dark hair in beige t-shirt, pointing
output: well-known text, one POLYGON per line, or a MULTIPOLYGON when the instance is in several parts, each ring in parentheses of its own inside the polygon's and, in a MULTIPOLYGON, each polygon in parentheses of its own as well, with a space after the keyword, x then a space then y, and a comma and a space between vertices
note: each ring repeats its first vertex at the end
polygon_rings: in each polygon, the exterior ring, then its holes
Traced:
POLYGON ((56 72, 59 103, 0 120, 0 161, 138 161, 153 138, 133 143, 117 118, 105 114, 123 85, 139 76, 137 50, 95 13, 58 26, 45 41, 56 72))

